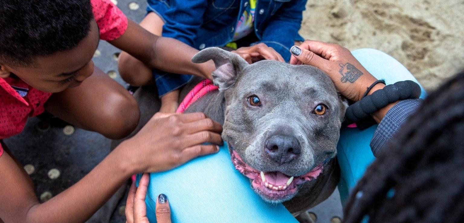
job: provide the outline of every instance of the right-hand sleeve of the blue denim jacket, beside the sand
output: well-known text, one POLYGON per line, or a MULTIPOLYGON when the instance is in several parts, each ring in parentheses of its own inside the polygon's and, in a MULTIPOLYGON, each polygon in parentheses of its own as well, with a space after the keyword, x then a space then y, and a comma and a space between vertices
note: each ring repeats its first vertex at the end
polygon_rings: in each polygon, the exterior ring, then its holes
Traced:
POLYGON ((306 1, 291 0, 283 3, 269 19, 261 34, 259 42, 274 48, 284 57, 285 61, 290 60, 290 47, 295 45, 294 41, 301 27, 306 1))

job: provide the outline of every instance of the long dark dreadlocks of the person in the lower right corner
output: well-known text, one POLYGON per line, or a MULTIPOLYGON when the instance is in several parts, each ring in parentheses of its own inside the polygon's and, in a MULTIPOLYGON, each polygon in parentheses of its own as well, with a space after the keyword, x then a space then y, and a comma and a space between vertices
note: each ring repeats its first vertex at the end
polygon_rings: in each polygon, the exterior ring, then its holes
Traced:
POLYGON ((464 222, 464 71, 424 100, 367 169, 344 222, 464 222))

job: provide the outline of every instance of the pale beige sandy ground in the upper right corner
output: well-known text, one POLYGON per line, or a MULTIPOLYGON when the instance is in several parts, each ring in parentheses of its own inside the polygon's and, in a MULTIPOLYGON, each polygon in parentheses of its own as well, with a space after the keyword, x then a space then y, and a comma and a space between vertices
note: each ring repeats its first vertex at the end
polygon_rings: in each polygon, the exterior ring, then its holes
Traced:
POLYGON ((374 48, 433 89, 464 68, 464 0, 308 0, 300 34, 374 48))

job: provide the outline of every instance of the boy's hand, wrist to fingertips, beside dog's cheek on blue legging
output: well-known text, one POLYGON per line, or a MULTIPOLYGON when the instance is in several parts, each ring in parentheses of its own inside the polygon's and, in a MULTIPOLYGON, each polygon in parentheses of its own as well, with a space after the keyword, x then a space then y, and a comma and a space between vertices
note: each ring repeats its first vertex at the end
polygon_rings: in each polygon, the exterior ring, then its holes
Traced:
MULTIPOLYGON (((118 152, 137 173, 161 172, 195 157, 216 153, 222 126, 203 113, 155 114, 118 152), (211 144, 204 145, 202 143, 211 144)), ((116 150, 115 149, 115 150, 116 150)))

